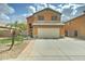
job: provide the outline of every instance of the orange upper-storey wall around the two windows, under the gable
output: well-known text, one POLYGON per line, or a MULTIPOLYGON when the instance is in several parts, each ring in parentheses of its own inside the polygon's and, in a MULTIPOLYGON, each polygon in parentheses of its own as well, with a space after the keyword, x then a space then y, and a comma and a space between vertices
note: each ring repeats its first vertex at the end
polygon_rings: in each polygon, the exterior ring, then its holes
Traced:
POLYGON ((38 21, 38 16, 44 16, 44 21, 46 21, 46 22, 51 22, 52 21, 52 16, 57 16, 56 22, 60 21, 60 14, 59 13, 55 13, 53 11, 42 11, 40 13, 37 13, 34 15, 34 22, 38 21))

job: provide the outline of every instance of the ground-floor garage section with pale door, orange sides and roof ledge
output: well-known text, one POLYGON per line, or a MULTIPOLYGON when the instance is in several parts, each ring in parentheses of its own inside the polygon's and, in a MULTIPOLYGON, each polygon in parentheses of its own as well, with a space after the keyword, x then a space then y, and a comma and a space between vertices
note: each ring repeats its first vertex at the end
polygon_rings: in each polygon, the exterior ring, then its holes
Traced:
POLYGON ((36 23, 33 24, 32 35, 34 38, 59 38, 62 36, 63 24, 36 23))

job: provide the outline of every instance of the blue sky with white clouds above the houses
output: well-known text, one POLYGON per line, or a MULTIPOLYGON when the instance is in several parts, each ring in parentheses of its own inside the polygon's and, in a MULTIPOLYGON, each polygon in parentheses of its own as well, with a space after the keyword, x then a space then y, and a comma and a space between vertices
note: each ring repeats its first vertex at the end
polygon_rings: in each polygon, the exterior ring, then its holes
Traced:
POLYGON ((59 11, 62 14, 61 21, 63 22, 79 16, 85 11, 83 3, 0 3, 0 22, 26 22, 27 16, 45 8, 59 11))

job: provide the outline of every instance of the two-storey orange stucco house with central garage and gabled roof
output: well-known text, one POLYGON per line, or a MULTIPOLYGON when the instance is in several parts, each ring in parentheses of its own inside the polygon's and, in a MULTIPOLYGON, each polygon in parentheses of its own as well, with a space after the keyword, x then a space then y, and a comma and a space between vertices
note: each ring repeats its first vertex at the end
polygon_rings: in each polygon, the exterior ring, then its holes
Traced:
POLYGON ((33 38, 59 38, 65 36, 61 13, 49 8, 27 17, 28 34, 33 38))

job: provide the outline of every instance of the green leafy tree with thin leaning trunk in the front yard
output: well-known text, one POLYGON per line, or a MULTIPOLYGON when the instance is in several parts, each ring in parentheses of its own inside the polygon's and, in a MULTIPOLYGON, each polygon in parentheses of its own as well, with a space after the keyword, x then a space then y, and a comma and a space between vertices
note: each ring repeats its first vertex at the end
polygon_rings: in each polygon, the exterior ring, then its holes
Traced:
POLYGON ((15 33, 18 29, 19 33, 24 31, 27 29, 27 25, 25 23, 18 23, 17 21, 13 24, 8 24, 6 26, 10 26, 11 28, 14 27, 13 33, 12 33, 12 43, 10 47, 10 50, 13 48, 14 46, 14 40, 15 40, 15 33))

